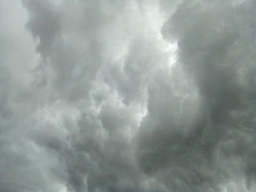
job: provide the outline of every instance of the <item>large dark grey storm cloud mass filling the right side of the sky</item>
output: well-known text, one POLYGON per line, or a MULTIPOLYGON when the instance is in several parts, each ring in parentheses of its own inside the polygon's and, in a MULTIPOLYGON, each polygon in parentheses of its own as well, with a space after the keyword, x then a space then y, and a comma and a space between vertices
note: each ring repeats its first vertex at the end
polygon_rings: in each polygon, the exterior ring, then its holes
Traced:
POLYGON ((255 3, 232 3, 184 1, 162 28, 165 38, 178 40, 178 62, 200 94, 197 117, 179 130, 170 93, 167 101, 148 101, 140 166, 173 191, 254 190, 255 3), (240 181, 232 187, 232 180, 240 181))

